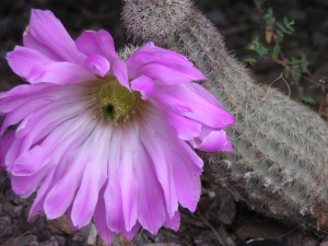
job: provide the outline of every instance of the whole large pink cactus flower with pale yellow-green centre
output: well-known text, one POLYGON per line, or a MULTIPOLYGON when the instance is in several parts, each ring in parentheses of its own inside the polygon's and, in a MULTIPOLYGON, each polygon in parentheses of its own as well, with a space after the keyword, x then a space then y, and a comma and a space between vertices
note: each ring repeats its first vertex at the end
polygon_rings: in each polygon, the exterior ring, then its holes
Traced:
POLYGON ((93 221, 108 244, 177 230, 178 206, 200 197, 192 148, 232 151, 234 119, 195 82, 204 75, 152 43, 122 60, 104 30, 73 40, 50 11, 32 11, 23 44, 7 56, 26 84, 0 94, 0 164, 16 195, 37 191, 30 218, 93 221))

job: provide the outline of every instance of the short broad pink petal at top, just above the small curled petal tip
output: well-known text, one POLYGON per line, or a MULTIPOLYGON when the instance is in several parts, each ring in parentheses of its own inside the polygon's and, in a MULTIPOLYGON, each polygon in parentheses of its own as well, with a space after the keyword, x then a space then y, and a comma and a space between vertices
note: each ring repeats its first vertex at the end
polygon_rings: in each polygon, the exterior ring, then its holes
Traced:
POLYGON ((75 40, 77 47, 86 56, 99 55, 107 58, 110 62, 119 59, 115 51, 114 40, 105 30, 84 31, 75 40))

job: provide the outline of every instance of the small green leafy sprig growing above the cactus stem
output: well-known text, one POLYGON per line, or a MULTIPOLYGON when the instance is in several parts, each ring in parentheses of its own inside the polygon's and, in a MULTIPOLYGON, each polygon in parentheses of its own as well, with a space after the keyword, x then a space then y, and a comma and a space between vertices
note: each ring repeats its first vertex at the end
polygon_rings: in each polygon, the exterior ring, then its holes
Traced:
POLYGON ((295 86, 300 99, 308 105, 319 105, 318 110, 321 116, 325 115, 325 108, 328 105, 328 84, 327 78, 316 78, 308 70, 308 61, 304 54, 298 57, 286 57, 282 50, 282 44, 288 36, 295 34, 295 22, 283 16, 282 20, 277 20, 272 8, 265 9, 266 0, 254 0, 256 7, 262 15, 265 23, 263 38, 256 36, 248 45, 247 49, 251 51, 244 61, 249 66, 256 65, 259 60, 270 59, 274 63, 282 67, 283 75, 290 82, 289 85, 295 86), (304 80, 308 89, 320 89, 326 96, 321 102, 316 102, 316 98, 306 94, 304 86, 300 82, 304 80))

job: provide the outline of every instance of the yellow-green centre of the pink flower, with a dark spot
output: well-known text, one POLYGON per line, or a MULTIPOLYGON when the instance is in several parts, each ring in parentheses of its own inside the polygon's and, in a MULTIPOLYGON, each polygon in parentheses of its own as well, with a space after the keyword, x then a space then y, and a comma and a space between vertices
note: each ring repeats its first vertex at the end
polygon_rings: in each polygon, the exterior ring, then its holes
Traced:
POLYGON ((130 120, 141 104, 138 92, 130 92, 121 86, 113 77, 105 79, 97 95, 101 117, 105 121, 119 125, 130 120))

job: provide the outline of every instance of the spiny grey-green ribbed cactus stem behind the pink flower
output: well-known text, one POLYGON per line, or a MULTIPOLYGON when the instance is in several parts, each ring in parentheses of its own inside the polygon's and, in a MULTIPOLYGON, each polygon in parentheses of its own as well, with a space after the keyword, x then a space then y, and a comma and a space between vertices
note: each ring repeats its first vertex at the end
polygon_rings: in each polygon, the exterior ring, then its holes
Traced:
POLYGON ((134 42, 152 40, 187 55, 235 116, 227 130, 234 153, 207 155, 216 180, 256 211, 327 230, 327 124, 279 91, 255 84, 190 1, 125 0, 122 19, 134 42))

